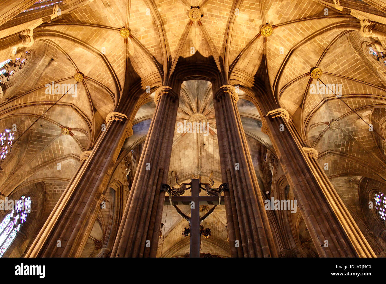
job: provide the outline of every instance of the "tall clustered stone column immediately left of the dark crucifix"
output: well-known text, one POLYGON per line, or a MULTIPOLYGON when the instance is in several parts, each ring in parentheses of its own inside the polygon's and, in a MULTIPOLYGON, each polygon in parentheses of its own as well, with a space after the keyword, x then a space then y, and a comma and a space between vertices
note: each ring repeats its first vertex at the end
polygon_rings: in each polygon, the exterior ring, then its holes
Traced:
POLYGON ((122 217, 112 257, 155 257, 164 207, 178 95, 161 87, 154 97, 156 110, 122 217))

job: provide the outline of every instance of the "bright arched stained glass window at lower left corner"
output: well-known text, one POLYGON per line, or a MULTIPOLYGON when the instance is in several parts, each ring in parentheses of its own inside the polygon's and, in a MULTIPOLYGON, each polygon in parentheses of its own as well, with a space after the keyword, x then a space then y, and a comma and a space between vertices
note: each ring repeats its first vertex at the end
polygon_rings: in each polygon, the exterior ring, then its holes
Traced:
POLYGON ((15 209, 7 214, 0 223, 0 257, 7 251, 15 240, 16 233, 20 231, 29 213, 31 212, 31 198, 22 196, 16 201, 15 209))

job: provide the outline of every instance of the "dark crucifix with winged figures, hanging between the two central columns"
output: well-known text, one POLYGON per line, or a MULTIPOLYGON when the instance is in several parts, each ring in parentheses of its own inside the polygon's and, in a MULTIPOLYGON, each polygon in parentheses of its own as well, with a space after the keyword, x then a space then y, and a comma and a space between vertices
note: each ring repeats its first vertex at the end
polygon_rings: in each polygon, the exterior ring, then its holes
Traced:
MULTIPOLYGON (((168 192, 169 196, 165 197, 165 205, 172 205, 176 208, 178 214, 188 220, 190 225, 190 257, 200 257, 201 245, 201 222, 204 221, 219 204, 224 204, 221 192, 228 189, 228 184, 221 184, 218 188, 212 188, 214 184, 212 174, 210 176, 211 184, 204 184, 200 182, 201 177, 194 176, 190 183, 183 183, 178 188, 170 188, 168 184, 162 184, 161 190, 168 192), (181 196, 186 190, 190 189, 191 196, 181 196), (208 196, 200 196, 201 189, 206 190, 208 196), (178 204, 190 205, 190 217, 184 214, 178 207, 178 204), (200 218, 200 204, 214 205, 204 216, 200 218)), ((178 178, 176 175, 176 183, 178 178)), ((179 184, 178 184, 179 185, 179 184)))

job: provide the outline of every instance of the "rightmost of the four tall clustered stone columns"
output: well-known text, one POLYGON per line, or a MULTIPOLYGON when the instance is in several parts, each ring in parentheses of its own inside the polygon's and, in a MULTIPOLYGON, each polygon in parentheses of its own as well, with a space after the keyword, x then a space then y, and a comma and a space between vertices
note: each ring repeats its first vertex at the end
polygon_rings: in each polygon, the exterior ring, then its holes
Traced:
MULTIPOLYGON (((260 99, 264 112, 268 102, 272 100, 269 95, 260 99)), ((375 257, 336 190, 316 162, 317 151, 302 147, 288 122, 288 112, 278 108, 265 114, 263 131, 271 138, 319 256, 375 257)))

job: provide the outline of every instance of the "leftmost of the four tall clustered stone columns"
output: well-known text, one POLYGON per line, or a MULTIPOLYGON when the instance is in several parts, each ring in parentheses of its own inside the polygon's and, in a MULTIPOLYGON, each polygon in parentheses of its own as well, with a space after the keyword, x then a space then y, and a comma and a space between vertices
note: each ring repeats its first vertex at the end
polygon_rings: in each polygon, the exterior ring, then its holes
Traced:
POLYGON ((26 257, 80 257, 100 209, 100 197, 132 124, 125 114, 107 115, 107 128, 32 243, 26 257))

